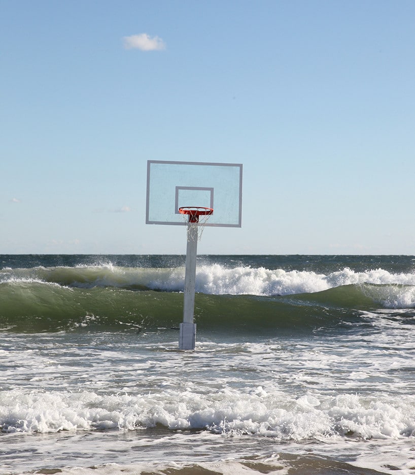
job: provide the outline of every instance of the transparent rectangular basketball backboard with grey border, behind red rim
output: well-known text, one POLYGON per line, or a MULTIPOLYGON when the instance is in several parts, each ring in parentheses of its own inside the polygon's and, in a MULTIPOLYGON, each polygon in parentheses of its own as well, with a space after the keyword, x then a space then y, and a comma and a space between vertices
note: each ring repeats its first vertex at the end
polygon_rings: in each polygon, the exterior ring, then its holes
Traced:
POLYGON ((182 206, 213 208, 205 226, 240 228, 242 165, 149 160, 146 224, 184 226, 182 206))

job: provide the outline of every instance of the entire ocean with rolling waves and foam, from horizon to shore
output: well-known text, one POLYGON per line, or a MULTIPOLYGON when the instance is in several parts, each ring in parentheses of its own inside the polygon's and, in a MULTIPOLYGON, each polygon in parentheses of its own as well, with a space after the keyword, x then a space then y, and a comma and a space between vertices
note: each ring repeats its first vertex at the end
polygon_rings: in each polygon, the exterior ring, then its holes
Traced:
POLYGON ((415 473, 414 256, 0 256, 0 474, 415 473))

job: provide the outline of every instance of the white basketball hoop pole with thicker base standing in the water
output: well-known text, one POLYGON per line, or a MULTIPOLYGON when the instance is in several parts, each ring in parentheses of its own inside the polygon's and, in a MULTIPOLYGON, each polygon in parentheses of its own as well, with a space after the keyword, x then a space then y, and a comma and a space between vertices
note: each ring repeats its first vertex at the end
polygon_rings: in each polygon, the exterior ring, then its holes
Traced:
POLYGON ((186 274, 183 323, 180 324, 179 349, 194 350, 196 324, 193 323, 196 284, 197 226, 187 226, 186 274))

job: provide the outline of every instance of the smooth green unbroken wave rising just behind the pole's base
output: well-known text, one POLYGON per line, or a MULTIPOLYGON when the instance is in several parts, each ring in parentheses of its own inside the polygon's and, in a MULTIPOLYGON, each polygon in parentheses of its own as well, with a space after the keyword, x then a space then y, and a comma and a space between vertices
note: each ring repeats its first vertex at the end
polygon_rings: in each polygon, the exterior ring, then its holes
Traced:
MULTIPOLYGON (((200 330, 235 332, 335 325, 345 315, 356 318, 359 311, 378 307, 377 294, 386 287, 349 285, 274 297, 196 294, 195 321, 200 330)), ((179 325, 182 313, 182 293, 69 288, 39 281, 0 284, 0 327, 19 332, 169 328, 179 325)))

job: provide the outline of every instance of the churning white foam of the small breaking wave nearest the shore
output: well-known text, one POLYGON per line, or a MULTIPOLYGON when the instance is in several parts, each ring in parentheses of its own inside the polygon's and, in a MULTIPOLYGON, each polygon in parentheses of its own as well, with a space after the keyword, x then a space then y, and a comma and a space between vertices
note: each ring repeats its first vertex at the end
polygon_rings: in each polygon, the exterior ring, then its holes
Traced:
POLYGON ((135 430, 162 425, 172 430, 209 429, 214 433, 257 434, 279 440, 338 436, 399 438, 415 433, 413 398, 405 401, 305 394, 297 399, 222 390, 209 394, 167 390, 155 394, 107 395, 94 392, 0 393, 3 432, 135 430))

